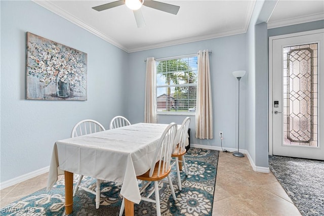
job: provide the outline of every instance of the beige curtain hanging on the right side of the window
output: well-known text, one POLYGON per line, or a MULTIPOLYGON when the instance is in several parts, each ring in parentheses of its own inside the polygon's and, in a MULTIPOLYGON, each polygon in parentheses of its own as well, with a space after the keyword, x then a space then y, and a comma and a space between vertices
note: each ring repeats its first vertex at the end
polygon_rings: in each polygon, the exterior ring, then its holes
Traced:
POLYGON ((213 139, 213 104, 208 50, 198 53, 196 138, 213 139))

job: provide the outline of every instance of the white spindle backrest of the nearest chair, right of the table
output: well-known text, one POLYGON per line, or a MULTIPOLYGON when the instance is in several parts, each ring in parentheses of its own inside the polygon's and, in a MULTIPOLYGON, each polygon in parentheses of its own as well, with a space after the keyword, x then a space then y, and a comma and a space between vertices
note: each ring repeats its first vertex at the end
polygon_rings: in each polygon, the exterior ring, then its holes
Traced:
POLYGON ((168 170, 171 169, 171 155, 177 128, 177 124, 172 122, 163 132, 154 153, 149 177, 152 177, 153 175, 156 161, 158 161, 157 177, 159 177, 160 174, 164 175, 165 172, 168 172, 168 170))

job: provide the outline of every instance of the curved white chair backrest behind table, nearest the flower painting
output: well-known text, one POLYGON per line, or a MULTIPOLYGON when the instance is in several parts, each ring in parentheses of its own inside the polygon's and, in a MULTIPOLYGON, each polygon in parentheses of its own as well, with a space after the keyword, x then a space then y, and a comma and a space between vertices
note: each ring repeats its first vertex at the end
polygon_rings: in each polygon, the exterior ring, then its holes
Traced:
POLYGON ((92 119, 85 119, 77 122, 72 129, 71 137, 78 137, 96 132, 105 131, 101 123, 92 119))

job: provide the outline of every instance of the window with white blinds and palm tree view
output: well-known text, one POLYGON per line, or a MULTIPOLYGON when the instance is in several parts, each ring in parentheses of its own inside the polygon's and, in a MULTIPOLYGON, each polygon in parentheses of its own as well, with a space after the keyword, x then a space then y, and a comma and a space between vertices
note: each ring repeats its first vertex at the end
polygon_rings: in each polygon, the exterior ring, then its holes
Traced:
POLYGON ((157 113, 195 112, 197 55, 156 60, 157 113))

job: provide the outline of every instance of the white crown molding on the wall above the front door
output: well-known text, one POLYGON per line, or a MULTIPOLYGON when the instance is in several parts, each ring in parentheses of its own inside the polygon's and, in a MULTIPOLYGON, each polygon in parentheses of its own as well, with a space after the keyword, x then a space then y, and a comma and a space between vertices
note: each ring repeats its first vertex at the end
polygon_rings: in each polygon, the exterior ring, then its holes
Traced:
POLYGON ((278 27, 283 27, 283 26, 288 26, 288 25, 296 25, 296 24, 312 22, 312 21, 317 21, 317 20, 324 20, 324 14, 318 13, 318 14, 313 14, 310 16, 307 15, 307 16, 295 17, 295 18, 285 19, 285 20, 280 20, 280 21, 268 22, 268 29, 278 28, 278 27))

